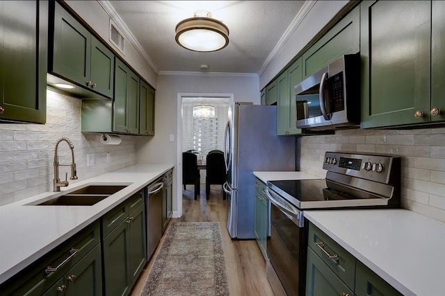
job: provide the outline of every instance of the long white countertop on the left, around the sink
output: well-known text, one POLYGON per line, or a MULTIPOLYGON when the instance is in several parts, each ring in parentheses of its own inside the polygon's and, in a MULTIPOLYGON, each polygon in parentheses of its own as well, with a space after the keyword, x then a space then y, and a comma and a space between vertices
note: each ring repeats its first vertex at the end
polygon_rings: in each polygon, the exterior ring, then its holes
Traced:
POLYGON ((137 164, 0 207, 0 284, 138 192, 172 164, 137 164), (129 185, 92 206, 33 206, 88 184, 129 185))

